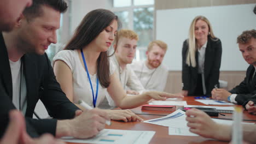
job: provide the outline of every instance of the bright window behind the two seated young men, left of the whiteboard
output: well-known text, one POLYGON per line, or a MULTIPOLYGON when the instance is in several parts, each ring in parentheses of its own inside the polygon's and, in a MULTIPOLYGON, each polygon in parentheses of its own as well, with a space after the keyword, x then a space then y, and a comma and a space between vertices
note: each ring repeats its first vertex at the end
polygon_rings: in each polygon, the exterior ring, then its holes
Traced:
POLYGON ((139 36, 136 61, 146 59, 147 46, 154 39, 154 0, 109 0, 111 10, 119 17, 122 28, 139 36))

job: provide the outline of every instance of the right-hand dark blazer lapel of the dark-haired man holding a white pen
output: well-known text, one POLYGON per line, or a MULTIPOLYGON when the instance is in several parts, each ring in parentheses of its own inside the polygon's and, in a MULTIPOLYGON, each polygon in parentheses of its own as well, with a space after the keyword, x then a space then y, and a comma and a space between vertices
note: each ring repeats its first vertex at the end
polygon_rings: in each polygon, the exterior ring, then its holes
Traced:
MULTIPOLYGON (((34 83, 37 78, 37 66, 36 63, 33 61, 34 59, 28 55, 25 54, 22 57, 22 60, 24 62, 24 74, 26 79, 26 87, 27 87, 27 112, 31 111, 31 109, 34 109, 34 103, 37 102, 36 92, 38 91, 38 88, 36 87, 38 84, 34 83)), ((32 115, 32 113, 27 113, 27 115, 32 115)))

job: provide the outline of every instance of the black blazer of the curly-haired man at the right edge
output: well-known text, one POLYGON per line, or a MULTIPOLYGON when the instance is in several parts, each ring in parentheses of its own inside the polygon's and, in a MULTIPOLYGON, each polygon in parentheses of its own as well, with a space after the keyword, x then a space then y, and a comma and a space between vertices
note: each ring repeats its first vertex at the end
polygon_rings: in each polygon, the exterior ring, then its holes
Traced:
POLYGON ((237 94, 235 100, 238 105, 246 105, 249 100, 256 102, 256 75, 252 79, 254 71, 253 65, 249 65, 245 80, 229 91, 232 94, 237 94))

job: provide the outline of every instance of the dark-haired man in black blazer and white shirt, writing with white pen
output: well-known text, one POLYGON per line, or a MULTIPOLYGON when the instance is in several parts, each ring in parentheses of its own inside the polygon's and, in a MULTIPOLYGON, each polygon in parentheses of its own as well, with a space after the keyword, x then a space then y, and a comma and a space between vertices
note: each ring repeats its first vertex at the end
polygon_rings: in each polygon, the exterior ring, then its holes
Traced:
POLYGON ((51 43, 56 43, 60 14, 66 8, 63 0, 34 0, 16 21, 13 31, 0 34, 0 136, 7 127, 11 109, 24 113, 27 125, 32 125, 27 127, 32 136, 50 133, 87 138, 96 135, 109 120, 102 111, 82 112, 68 100, 45 53, 51 43), (32 119, 39 99, 56 119, 32 119))

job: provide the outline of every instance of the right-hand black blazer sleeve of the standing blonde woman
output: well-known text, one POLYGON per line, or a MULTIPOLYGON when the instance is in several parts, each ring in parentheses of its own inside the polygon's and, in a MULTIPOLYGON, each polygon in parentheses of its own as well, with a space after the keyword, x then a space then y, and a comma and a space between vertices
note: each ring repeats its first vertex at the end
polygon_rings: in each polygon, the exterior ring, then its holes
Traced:
POLYGON ((214 45, 212 46, 214 47, 214 63, 210 71, 210 83, 207 88, 207 94, 211 94, 214 85, 219 85, 219 69, 220 63, 222 61, 222 42, 220 41, 220 39, 218 39, 217 41, 214 41, 213 44, 214 45))

